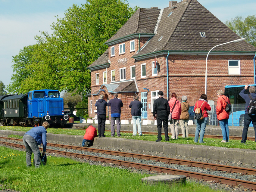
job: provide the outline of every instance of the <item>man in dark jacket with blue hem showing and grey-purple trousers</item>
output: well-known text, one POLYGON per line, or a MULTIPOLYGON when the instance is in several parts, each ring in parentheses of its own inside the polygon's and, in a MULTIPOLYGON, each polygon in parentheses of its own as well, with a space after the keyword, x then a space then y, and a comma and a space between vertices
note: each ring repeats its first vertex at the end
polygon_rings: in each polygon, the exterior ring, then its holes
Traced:
POLYGON ((123 102, 121 99, 118 99, 117 93, 113 94, 113 99, 108 102, 108 106, 111 108, 111 137, 115 135, 115 121, 117 120, 117 136, 120 137, 121 129, 121 107, 123 107, 123 102))

